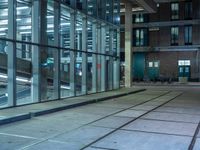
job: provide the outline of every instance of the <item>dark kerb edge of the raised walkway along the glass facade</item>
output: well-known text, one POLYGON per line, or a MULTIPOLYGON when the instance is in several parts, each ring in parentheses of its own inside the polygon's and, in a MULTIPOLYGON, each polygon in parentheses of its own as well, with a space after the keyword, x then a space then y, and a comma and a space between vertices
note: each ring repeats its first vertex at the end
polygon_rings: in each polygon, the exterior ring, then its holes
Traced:
MULTIPOLYGON (((84 101, 84 102, 80 102, 80 103, 55 107, 55 108, 46 109, 46 110, 42 110, 42 111, 28 112, 28 113, 25 113, 23 115, 17 115, 17 116, 13 116, 13 117, 7 117, 7 118, 0 119, 0 126, 5 125, 5 124, 9 124, 9 123, 13 123, 13 122, 17 122, 17 121, 31 119, 33 117, 37 117, 37 116, 41 116, 41 115, 46 115, 46 114, 55 113, 55 112, 58 112, 58 111, 63 111, 63 110, 79 107, 79 106, 93 104, 93 103, 97 103, 97 102, 101 102, 101 101, 106 101, 106 100, 110 100, 110 99, 118 98, 118 97, 123 97, 123 96, 130 95, 130 94, 136 94, 136 93, 139 93, 139 92, 143 92, 145 90, 146 89, 138 89, 138 90, 135 90, 135 91, 115 94, 115 95, 112 95, 112 96, 101 97, 101 98, 98 98, 98 99, 94 98, 92 100, 84 101)), ((52 102, 52 101, 50 101, 50 102, 52 102)), ((39 103, 37 103, 37 104, 39 104, 39 103)), ((5 110, 5 109, 2 109, 2 110, 5 110)))

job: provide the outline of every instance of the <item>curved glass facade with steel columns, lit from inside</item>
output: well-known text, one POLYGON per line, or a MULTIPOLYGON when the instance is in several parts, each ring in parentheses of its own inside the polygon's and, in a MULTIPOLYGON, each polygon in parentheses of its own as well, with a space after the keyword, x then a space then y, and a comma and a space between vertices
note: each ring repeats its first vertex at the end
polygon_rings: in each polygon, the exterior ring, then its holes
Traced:
POLYGON ((119 88, 119 0, 0 0, 0 107, 119 88))

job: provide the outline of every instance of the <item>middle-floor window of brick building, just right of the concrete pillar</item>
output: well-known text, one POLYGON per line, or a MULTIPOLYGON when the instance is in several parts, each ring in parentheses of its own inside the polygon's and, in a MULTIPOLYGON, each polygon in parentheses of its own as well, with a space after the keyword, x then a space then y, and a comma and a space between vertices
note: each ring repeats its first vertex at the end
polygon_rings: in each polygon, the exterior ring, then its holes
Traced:
POLYGON ((148 30, 147 29, 135 29, 133 37, 134 46, 147 46, 148 45, 148 30))

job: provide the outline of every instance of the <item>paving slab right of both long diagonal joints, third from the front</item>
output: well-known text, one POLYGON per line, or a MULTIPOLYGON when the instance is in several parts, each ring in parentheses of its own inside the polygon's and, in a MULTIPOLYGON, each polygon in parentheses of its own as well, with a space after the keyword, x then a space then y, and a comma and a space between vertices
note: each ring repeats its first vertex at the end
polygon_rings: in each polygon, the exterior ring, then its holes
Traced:
POLYGON ((199 123, 200 121, 199 115, 165 113, 165 112, 151 112, 143 116, 142 118, 167 120, 167 121, 182 121, 190 123, 199 123))

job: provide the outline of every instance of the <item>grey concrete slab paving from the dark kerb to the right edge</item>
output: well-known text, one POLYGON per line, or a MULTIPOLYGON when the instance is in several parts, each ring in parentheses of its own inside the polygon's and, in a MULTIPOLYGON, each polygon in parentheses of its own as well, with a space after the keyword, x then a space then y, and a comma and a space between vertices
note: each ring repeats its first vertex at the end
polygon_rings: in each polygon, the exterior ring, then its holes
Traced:
POLYGON ((200 88, 146 88, 0 126, 0 150, 200 150, 200 88))

